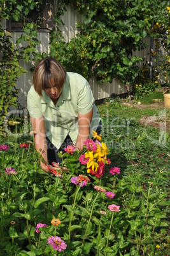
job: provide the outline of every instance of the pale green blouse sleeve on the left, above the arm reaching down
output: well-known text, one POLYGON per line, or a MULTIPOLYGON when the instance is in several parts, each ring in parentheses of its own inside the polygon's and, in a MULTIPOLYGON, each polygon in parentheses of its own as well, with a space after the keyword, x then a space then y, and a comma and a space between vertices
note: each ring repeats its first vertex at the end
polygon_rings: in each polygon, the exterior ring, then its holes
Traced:
POLYGON ((39 95, 34 91, 34 89, 29 90, 27 95, 27 109, 29 111, 29 115, 33 118, 42 117, 42 113, 38 107, 39 95))

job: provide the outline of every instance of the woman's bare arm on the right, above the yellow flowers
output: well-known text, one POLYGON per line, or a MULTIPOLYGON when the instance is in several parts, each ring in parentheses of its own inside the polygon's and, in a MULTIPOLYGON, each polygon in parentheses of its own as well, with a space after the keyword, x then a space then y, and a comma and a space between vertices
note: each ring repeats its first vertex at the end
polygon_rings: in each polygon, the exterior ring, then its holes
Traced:
POLYGON ((78 137, 76 139, 76 147, 83 149, 83 143, 89 139, 90 123, 92 120, 93 109, 87 114, 78 113, 78 137))

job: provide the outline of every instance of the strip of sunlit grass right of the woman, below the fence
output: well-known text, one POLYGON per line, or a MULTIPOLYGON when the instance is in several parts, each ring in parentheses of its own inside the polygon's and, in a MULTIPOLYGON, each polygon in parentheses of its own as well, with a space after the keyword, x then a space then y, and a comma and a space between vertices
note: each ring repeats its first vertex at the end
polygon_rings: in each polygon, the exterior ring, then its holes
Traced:
POLYGON ((129 120, 134 120, 139 122, 144 116, 155 117, 159 122, 166 122, 167 129, 170 124, 170 108, 164 108, 163 104, 155 104, 154 101, 163 97, 162 93, 154 92, 152 96, 145 97, 140 100, 141 104, 146 106, 138 106, 136 103, 138 101, 133 100, 131 103, 127 99, 120 99, 120 97, 110 97, 105 99, 104 103, 97 106, 99 112, 101 113, 101 118, 107 117, 111 118, 129 118, 129 120), (152 107, 150 106, 152 103, 152 107))

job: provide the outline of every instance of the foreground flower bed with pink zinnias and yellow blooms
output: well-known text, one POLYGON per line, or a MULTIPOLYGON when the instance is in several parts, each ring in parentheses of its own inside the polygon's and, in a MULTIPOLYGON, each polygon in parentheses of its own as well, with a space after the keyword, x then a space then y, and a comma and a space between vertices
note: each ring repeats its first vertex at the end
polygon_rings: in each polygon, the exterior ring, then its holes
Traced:
POLYGON ((82 152, 67 146, 56 175, 41 170, 32 141, 0 146, 1 253, 167 255, 166 172, 127 174, 94 138, 82 152))

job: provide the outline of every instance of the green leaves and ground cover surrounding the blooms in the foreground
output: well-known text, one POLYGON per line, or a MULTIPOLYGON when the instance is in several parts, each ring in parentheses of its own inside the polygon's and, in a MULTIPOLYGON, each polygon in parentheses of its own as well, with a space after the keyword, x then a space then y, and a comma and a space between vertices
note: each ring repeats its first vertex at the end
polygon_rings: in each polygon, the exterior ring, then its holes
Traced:
MULTIPOLYGON (((159 144, 160 133, 127 117, 127 109, 122 109, 124 116, 120 118, 116 106, 118 103, 110 102, 99 110, 110 167, 120 167, 120 174, 110 174, 106 166, 97 179, 69 154, 69 172, 62 170, 62 177, 52 176, 40 169, 33 144, 20 148, 20 143, 32 140, 30 136, 17 143, 6 140, 10 148, 0 151, 0 252, 21 256, 168 255, 169 142, 159 144), (5 173, 10 166, 17 174, 5 173), (87 186, 71 183, 72 176, 79 173, 89 176, 87 186), (108 199, 94 185, 114 192, 115 197, 108 199), (120 206, 120 211, 111 212, 110 204, 120 206), (61 224, 53 226, 53 218, 59 218, 61 224), (38 223, 48 226, 37 234, 34 229, 38 223), (50 236, 61 237, 66 250, 59 253, 46 245, 50 236)), ((75 154, 78 157, 78 152, 75 154)))

